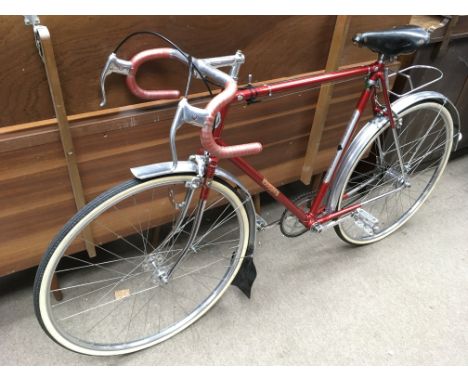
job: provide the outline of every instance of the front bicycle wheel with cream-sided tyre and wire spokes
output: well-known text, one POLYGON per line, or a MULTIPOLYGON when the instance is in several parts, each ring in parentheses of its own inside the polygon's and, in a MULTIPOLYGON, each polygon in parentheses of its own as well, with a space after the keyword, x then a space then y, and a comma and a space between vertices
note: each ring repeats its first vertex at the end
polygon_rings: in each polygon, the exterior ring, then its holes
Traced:
POLYGON ((130 353, 179 333, 218 301, 241 266, 249 221, 236 192, 213 180, 191 238, 193 178, 128 181, 66 224, 34 283, 36 316, 53 340, 83 354, 130 353))

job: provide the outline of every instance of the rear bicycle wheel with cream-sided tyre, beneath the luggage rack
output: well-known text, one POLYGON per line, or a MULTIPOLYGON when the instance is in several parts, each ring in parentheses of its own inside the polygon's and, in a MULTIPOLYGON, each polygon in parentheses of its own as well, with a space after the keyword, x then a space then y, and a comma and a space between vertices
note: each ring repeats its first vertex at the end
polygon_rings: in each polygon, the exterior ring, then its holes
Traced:
POLYGON ((396 231, 421 207, 447 165, 453 121, 444 105, 430 101, 413 105, 396 122, 397 139, 393 129, 384 126, 356 156, 345 177, 337 209, 360 205, 335 226, 348 243, 369 244, 396 231))

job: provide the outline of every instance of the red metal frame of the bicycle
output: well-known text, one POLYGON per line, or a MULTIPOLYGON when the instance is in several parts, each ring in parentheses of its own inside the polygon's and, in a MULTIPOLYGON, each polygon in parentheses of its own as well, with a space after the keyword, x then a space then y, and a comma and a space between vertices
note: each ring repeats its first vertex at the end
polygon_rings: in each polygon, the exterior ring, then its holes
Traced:
MULTIPOLYGON (((265 178, 260 172, 253 168, 245 159, 240 157, 230 158, 229 160, 240 168, 245 174, 252 178, 260 187, 268 192, 275 200, 283 204, 288 210, 290 210, 297 218, 307 227, 311 228, 315 224, 323 224, 330 220, 337 219, 345 214, 348 214, 360 207, 360 204, 354 204, 348 206, 339 211, 325 211, 324 198, 330 187, 330 182, 334 178, 336 171, 340 165, 340 160, 343 154, 348 149, 351 137, 353 136, 356 126, 363 114, 364 108, 366 107, 369 99, 372 99, 372 110, 374 114, 381 113, 386 115, 390 120, 390 125, 394 127, 394 120, 390 107, 390 99, 388 96, 387 88, 387 74, 386 67, 382 61, 376 61, 373 64, 365 66, 356 66, 349 69, 340 70, 332 73, 325 73, 315 76, 301 77, 292 79, 286 82, 272 83, 261 86, 249 86, 248 88, 238 90, 236 93, 237 102, 244 101, 255 101, 258 98, 269 97, 273 94, 282 93, 288 90, 304 88, 308 86, 322 85, 328 82, 337 81, 341 79, 348 79, 354 77, 367 77, 366 88, 361 93, 359 101, 354 110, 353 116, 348 123, 345 134, 338 145, 336 155, 332 161, 332 164, 328 168, 325 177, 323 178, 317 195, 315 196, 310 210, 304 212, 301 208, 295 205, 288 197, 286 197, 280 190, 273 186, 267 178, 265 178), (375 86, 377 82, 380 84, 382 90, 384 107, 380 107, 375 102, 375 86)), ((236 102, 236 101, 234 101, 236 102)), ((221 146, 227 146, 227 144, 221 139, 221 134, 224 128, 224 120, 227 115, 229 104, 221 109, 221 123, 213 132, 215 141, 221 146)), ((207 178, 210 178, 210 174, 214 174, 214 169, 217 166, 218 158, 212 156, 208 168, 207 178)), ((203 195, 202 197, 207 197, 203 195)))

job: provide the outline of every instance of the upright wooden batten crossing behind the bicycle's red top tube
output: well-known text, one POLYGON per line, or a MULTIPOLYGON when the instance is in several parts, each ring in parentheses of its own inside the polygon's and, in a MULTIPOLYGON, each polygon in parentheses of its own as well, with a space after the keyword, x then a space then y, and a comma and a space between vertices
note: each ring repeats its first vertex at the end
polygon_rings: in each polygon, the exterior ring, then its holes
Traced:
MULTIPOLYGON (((326 72, 332 72, 338 69, 345 46, 345 41, 348 37, 348 29, 351 21, 350 16, 337 16, 335 30, 333 32, 330 52, 328 54, 326 72)), ((333 84, 323 85, 320 90, 319 99, 317 102, 317 110, 312 128, 310 130, 309 142, 307 151, 302 165, 301 181, 304 184, 309 184, 312 174, 314 173, 314 162, 319 150, 322 131, 325 126, 325 121, 328 115, 328 107, 333 94, 333 84)))

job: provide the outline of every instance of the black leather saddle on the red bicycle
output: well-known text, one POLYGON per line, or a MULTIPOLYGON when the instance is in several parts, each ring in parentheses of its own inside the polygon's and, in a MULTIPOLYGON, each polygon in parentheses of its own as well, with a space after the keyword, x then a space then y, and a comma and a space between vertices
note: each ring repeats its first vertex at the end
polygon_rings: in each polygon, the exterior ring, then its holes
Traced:
POLYGON ((430 34, 415 25, 403 25, 376 32, 358 33, 353 42, 387 57, 413 53, 429 42, 430 34))

